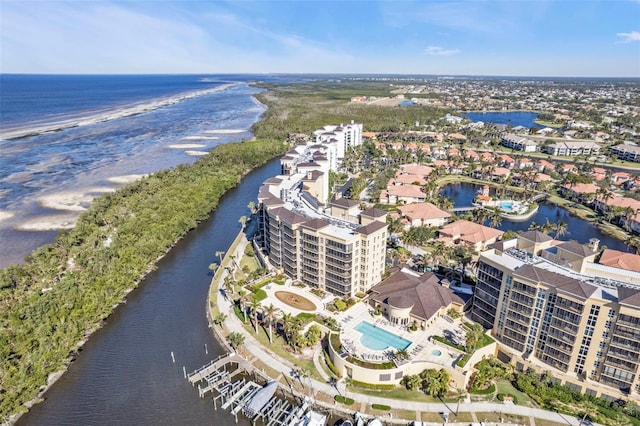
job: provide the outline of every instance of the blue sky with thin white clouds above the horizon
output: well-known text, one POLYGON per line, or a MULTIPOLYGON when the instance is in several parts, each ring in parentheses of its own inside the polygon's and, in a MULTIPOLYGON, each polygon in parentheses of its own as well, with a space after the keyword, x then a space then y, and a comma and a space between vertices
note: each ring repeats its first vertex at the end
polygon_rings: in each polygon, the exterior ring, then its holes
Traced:
POLYGON ((0 0, 0 72, 640 77, 640 0, 0 0))

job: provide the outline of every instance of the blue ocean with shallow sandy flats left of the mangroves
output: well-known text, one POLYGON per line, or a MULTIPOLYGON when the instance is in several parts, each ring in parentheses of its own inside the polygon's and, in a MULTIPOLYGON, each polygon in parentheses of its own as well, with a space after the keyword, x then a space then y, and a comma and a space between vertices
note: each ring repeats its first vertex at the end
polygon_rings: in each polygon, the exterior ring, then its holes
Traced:
POLYGON ((0 74, 0 267, 22 262, 91 200, 249 139, 251 75, 0 74))

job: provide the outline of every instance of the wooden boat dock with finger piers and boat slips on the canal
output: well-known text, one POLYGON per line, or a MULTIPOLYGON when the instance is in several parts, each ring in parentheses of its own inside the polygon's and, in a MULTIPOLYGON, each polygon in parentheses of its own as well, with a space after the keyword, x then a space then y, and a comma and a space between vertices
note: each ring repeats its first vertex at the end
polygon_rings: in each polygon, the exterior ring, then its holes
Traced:
POLYGON ((213 406, 229 409, 238 422, 242 412, 253 424, 261 420, 265 426, 290 426, 299 424, 310 401, 299 404, 287 400, 278 382, 258 384, 247 378, 232 380, 243 372, 253 371, 251 364, 236 353, 223 355, 187 375, 192 385, 198 385, 198 394, 203 398, 212 392, 213 406), (235 366, 235 368, 234 368, 235 366), (280 394, 278 395, 278 390, 280 394))

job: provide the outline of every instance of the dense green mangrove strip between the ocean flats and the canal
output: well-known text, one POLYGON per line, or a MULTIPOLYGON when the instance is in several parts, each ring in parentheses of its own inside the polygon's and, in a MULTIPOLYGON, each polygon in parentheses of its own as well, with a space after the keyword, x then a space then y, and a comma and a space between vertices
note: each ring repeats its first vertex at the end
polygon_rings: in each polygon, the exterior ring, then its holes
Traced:
POLYGON ((286 146, 222 145, 93 201, 74 229, 0 271, 0 419, 26 408, 47 377, 241 177, 286 146))

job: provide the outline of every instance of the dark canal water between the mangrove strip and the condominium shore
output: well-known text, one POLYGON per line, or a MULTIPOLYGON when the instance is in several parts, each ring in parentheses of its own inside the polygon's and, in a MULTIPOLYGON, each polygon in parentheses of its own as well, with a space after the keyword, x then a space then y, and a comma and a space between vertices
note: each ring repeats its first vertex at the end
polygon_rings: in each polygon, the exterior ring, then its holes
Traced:
POLYGON ((182 367, 191 372, 222 353, 205 314, 208 266, 233 242, 238 218, 248 214, 259 186, 279 171, 279 160, 272 160, 229 191, 210 219, 179 241, 129 294, 45 401, 18 424, 234 425, 228 411, 214 411, 211 398, 198 398, 182 367))

